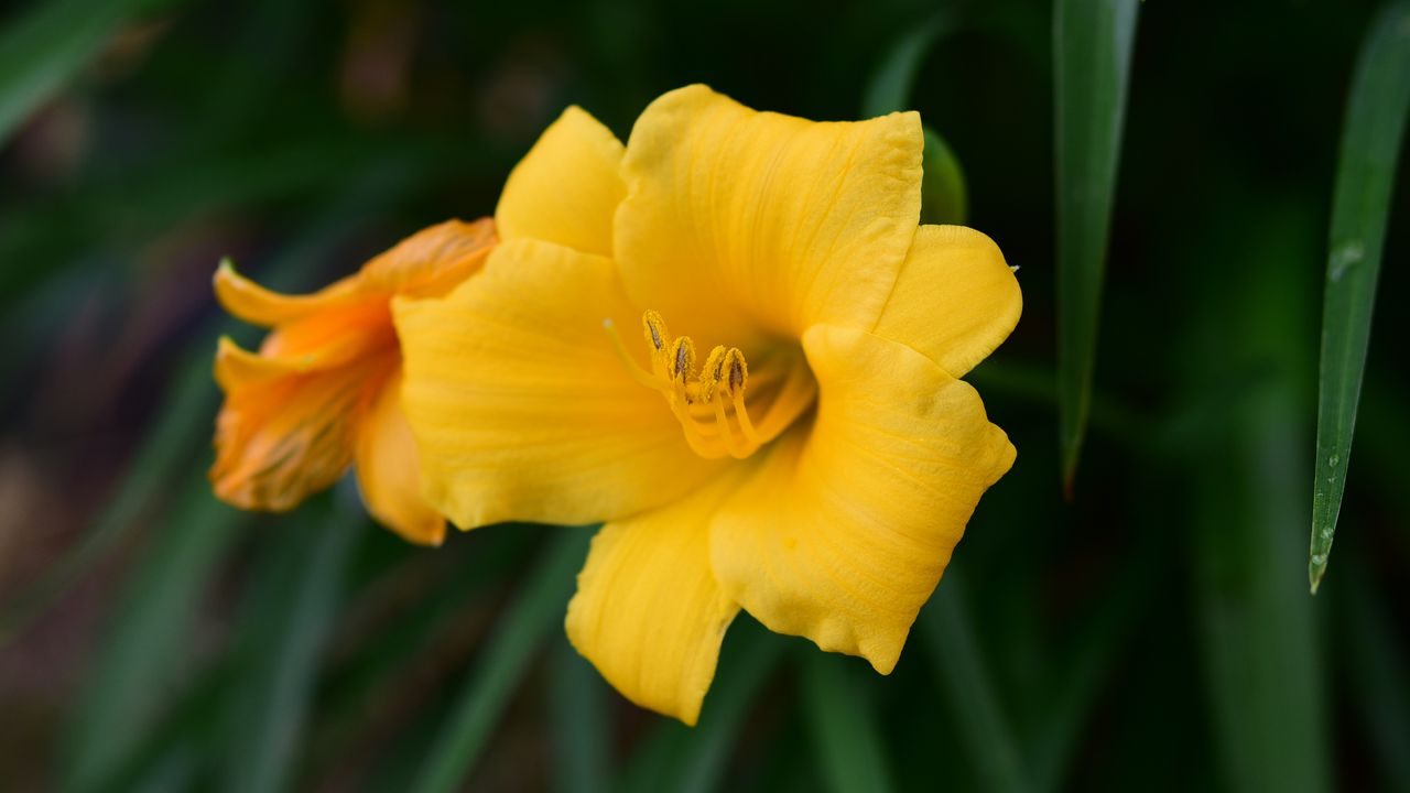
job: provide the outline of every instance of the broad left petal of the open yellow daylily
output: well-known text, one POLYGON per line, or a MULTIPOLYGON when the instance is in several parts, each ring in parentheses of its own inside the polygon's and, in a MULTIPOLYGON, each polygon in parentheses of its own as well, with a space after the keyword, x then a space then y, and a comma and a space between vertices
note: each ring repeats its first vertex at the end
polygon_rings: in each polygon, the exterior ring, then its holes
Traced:
POLYGON ((718 470, 613 353, 603 319, 640 322, 613 270, 510 240, 444 299, 393 302, 424 494, 458 526, 611 521, 718 470))

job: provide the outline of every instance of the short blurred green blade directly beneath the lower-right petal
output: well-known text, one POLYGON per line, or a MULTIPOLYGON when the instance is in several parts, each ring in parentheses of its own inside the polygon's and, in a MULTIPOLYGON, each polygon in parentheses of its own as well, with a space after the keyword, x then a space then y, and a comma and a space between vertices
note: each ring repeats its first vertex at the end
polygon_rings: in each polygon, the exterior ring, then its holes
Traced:
POLYGON ((835 793, 891 790, 881 727, 846 665, 856 660, 807 648, 802 701, 816 744, 816 761, 835 793))

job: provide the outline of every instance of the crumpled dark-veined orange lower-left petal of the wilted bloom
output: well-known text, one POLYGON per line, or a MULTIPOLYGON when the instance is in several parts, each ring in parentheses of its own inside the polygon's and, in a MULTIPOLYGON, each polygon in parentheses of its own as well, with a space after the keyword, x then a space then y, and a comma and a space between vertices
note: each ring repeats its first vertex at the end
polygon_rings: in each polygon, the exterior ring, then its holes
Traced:
POLYGON ((227 370, 210 470, 216 495, 244 509, 283 511, 336 483, 352 460, 367 384, 385 377, 393 361, 382 356, 251 380, 233 378, 227 370))

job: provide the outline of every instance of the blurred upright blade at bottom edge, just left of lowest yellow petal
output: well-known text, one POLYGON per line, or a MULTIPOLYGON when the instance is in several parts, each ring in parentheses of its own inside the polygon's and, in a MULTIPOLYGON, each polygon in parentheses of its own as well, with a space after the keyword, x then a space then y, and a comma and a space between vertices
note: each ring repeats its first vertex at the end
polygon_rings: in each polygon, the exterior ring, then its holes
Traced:
POLYGON ((554 642, 548 715, 553 727, 553 789, 561 793, 602 793, 611 779, 613 696, 596 669, 568 643, 554 642))

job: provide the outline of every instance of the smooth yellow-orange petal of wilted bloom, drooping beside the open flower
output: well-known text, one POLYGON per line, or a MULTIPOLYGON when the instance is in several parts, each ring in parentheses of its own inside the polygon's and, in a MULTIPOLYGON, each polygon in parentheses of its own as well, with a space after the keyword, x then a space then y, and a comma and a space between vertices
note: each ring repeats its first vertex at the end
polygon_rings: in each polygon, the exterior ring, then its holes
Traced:
POLYGON ((420 463, 402 413, 402 373, 392 373, 358 425, 357 481, 367 511, 384 526, 420 545, 446 539, 446 519, 422 498, 420 463))

